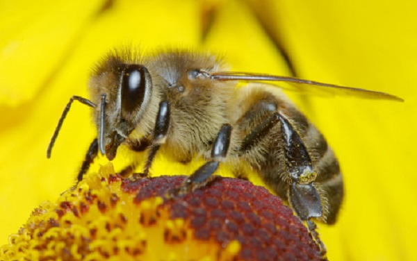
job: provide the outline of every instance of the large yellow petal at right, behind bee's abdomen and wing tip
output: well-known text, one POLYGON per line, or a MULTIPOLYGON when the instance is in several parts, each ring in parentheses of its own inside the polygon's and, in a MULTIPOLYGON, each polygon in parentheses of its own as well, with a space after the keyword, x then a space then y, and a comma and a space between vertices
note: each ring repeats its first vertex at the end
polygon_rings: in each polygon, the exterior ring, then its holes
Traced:
POLYGON ((329 257, 417 260, 417 3, 252 2, 261 21, 275 25, 271 35, 286 48, 298 76, 405 99, 309 97, 300 107, 325 134, 344 173, 338 224, 322 227, 329 257))

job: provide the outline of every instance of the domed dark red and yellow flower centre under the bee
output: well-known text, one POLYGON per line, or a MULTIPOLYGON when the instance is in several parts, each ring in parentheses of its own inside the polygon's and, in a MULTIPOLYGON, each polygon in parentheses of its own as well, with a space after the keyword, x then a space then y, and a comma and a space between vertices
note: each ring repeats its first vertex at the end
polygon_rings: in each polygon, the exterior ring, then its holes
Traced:
POLYGON ((36 208, 3 260, 321 260, 300 219, 252 183, 220 178, 166 196, 184 176, 122 180, 90 173, 36 208))

